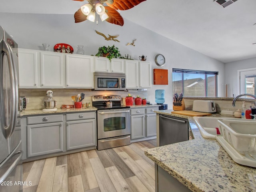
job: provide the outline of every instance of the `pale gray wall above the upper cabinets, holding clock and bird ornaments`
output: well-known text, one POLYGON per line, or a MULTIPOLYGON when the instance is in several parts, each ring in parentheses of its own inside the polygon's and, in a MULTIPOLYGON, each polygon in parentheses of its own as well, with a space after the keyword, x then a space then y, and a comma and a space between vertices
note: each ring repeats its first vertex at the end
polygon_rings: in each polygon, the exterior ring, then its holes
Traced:
MULTIPOLYGON (((147 56, 146 60, 152 62, 152 88, 148 90, 148 101, 155 103, 155 90, 166 90, 166 104, 172 108, 172 68, 218 71, 218 95, 224 83, 224 64, 208 56, 200 54, 177 42, 164 38, 142 26, 124 20, 124 26, 117 26, 108 22, 84 21, 74 23, 74 15, 61 14, 11 14, 0 13, 0 25, 11 34, 20 48, 43 50, 42 43, 50 44, 49 50, 57 43, 70 44, 77 50, 77 45, 84 45, 86 55, 95 55, 98 47, 113 44, 119 48, 121 54, 131 55, 138 60, 138 56, 147 56), (120 42, 106 41, 96 34, 95 30, 105 35, 117 35, 120 42), (135 46, 126 46, 128 42, 135 41, 135 46), (166 64, 158 67, 154 62, 156 54, 163 54, 166 64), (153 69, 168 69, 168 85, 153 85, 153 69)), ((154 23, 152 23, 154 25, 154 23)), ((170 26, 172 28, 172 26, 170 26)))

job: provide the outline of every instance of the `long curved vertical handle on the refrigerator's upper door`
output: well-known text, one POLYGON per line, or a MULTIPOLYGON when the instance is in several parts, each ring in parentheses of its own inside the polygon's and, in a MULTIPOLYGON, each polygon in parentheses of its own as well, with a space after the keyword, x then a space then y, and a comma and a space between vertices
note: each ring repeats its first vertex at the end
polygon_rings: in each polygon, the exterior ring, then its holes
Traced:
MULTIPOLYGON (((2 40, 3 43, 3 52, 7 56, 8 61, 8 69, 10 72, 10 88, 11 88, 11 96, 10 101, 2 101, 2 102, 11 102, 11 108, 10 108, 10 122, 5 122, 4 126, 6 130, 6 139, 9 138, 15 129, 15 123, 17 121, 17 113, 18 113, 18 80, 16 75, 16 68, 15 68, 15 61, 12 53, 12 48, 9 44, 7 44, 4 39, 2 40)), ((1 90, 2 91, 2 90, 1 90)), ((2 104, 3 106, 3 104, 2 104)), ((8 114, 5 114, 8 115, 8 114)), ((8 118, 5 118, 5 120, 8 121, 8 118)))

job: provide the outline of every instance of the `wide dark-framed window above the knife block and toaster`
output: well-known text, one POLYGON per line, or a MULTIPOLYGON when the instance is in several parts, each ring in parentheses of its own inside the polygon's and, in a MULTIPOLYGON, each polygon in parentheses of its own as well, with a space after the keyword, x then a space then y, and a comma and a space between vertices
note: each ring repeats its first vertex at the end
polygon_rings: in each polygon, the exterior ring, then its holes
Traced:
POLYGON ((217 75, 214 71, 172 69, 172 92, 184 96, 216 97, 217 75))

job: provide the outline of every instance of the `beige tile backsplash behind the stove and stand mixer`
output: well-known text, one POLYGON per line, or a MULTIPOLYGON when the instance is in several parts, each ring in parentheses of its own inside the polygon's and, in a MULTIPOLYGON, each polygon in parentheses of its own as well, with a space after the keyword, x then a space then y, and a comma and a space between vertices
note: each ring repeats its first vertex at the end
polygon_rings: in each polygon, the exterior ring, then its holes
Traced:
POLYGON ((44 100, 47 99, 46 91, 53 91, 53 98, 56 100, 56 107, 61 108, 62 105, 73 105, 72 95, 85 94, 82 103, 90 102, 92 104, 92 96, 114 94, 122 97, 128 96, 130 93, 133 97, 139 95, 141 98, 147 98, 147 90, 125 90, 125 91, 92 91, 91 89, 19 89, 20 96, 28 98, 26 110, 44 109, 44 100))

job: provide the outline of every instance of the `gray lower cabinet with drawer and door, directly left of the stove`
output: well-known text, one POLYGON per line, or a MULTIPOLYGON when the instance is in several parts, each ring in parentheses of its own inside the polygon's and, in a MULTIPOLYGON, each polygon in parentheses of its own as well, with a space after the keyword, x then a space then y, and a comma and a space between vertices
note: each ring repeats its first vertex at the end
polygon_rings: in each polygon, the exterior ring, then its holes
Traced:
POLYGON ((96 113, 66 114, 67 150, 96 146, 96 113))

